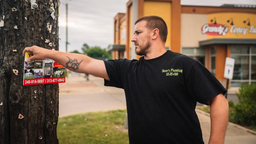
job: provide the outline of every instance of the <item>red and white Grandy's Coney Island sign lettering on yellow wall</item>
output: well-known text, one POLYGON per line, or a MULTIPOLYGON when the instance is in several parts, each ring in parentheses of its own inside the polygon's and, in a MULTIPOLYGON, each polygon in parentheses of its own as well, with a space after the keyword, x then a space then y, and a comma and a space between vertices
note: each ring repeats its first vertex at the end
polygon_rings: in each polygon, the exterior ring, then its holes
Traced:
POLYGON ((215 35, 215 36, 217 35, 225 36, 227 33, 245 36, 247 32, 249 34, 256 34, 256 26, 251 25, 251 26, 239 27, 236 25, 227 26, 226 24, 220 24, 220 23, 206 23, 201 28, 202 34, 215 35))

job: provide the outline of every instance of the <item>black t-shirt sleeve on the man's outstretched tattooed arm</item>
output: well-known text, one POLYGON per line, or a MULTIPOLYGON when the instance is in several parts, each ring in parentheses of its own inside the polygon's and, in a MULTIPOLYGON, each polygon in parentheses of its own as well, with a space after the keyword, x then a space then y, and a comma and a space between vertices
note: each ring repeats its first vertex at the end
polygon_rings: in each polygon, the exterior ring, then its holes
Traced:
POLYGON ((104 79, 104 86, 113 86, 123 89, 123 79, 126 68, 128 67, 128 59, 110 59, 104 61, 109 81, 104 79))

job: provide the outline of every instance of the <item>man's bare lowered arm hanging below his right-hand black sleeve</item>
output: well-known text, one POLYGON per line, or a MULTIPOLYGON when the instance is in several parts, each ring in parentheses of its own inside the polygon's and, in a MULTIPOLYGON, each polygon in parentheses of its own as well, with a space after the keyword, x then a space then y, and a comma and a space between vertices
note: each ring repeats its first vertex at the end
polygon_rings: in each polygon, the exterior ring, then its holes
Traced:
POLYGON ((229 104, 223 94, 212 98, 210 105, 211 135, 209 144, 223 144, 229 120, 229 104))

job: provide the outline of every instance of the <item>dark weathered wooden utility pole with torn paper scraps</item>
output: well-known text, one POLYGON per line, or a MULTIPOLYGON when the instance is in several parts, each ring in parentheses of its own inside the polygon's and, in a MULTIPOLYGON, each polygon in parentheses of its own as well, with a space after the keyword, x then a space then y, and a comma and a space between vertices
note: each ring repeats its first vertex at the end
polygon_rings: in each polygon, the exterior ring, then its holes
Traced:
POLYGON ((24 48, 37 45, 59 49, 59 2, 37 0, 36 3, 38 7, 31 9, 30 0, 0 1, 0 16, 5 15, 4 26, 0 27, 0 144, 58 143, 58 84, 23 86, 24 48), (49 11, 51 3, 54 20, 49 11), (47 23, 52 25, 51 33, 47 23), (18 29, 14 29, 15 25, 18 29), (53 46, 45 43, 45 39, 53 46), (18 70, 18 75, 13 69, 18 70), (19 114, 24 118, 18 119, 19 114))

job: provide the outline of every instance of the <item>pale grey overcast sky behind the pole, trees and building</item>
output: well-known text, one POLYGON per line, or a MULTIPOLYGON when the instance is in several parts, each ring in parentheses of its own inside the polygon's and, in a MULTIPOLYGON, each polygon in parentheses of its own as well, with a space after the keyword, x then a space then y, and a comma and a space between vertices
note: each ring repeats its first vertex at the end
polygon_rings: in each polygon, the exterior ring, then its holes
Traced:
MULTIPOLYGON (((114 43, 114 16, 126 12, 129 0, 61 0, 59 7, 59 51, 65 51, 68 4, 68 52, 81 51, 83 43, 106 48, 114 43)), ((256 4, 256 0, 181 0, 181 5, 220 6, 256 4)))

